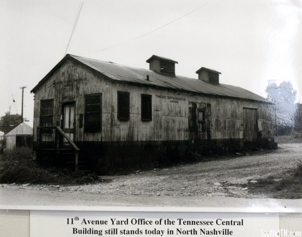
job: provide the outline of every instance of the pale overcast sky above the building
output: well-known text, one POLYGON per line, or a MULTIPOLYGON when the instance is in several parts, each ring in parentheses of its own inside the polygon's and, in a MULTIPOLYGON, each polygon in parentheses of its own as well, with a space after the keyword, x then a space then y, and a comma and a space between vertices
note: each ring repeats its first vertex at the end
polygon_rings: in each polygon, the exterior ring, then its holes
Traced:
POLYGON ((302 103, 301 0, 0 0, 0 116, 32 122, 30 90, 67 53, 149 69, 153 54, 200 67, 220 83, 266 97, 268 80, 290 81, 302 103), (73 26, 83 2, 76 24, 73 26), (15 103, 13 102, 15 100, 15 103))

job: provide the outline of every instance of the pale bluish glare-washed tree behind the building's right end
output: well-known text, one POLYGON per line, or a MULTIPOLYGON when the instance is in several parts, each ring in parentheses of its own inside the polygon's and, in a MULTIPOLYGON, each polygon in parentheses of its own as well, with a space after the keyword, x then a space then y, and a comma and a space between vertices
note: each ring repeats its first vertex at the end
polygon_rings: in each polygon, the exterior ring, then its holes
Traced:
POLYGON ((271 83, 265 91, 267 99, 274 103, 276 135, 290 132, 294 125, 297 91, 289 81, 283 81, 279 86, 271 83))

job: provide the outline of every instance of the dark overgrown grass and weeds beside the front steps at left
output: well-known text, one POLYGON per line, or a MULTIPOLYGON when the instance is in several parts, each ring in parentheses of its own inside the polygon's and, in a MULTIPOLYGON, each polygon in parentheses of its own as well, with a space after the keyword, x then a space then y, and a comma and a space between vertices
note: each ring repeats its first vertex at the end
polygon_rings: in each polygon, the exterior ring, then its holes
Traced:
POLYGON ((83 174, 57 167, 42 168, 31 159, 27 147, 8 150, 0 155, 0 183, 83 184, 97 180, 94 174, 83 174))

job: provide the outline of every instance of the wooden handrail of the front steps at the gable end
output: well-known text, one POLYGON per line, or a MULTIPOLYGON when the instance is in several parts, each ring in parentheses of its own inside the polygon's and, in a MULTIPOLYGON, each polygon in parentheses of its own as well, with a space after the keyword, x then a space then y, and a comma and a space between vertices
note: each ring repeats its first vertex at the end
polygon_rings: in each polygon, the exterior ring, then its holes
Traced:
POLYGON ((41 149, 42 147, 42 134, 43 133, 52 133, 52 131, 55 131, 54 134, 54 141, 52 140, 51 142, 54 142, 54 150, 55 153, 58 154, 59 150, 61 148, 61 144, 64 143, 64 139, 70 144, 70 146, 74 149, 75 151, 75 170, 79 170, 79 151, 80 149, 78 146, 67 136, 67 134, 59 127, 59 126, 51 126, 51 127, 38 127, 38 136, 37 136, 37 145, 38 149, 41 149), (51 132, 50 132, 51 130, 51 132), (61 140, 61 138, 63 138, 61 140))

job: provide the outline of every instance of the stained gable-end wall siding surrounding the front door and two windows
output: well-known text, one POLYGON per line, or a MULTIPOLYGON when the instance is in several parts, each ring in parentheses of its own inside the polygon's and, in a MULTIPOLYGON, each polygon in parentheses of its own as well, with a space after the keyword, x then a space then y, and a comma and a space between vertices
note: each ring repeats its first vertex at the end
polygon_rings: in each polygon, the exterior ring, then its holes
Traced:
MULTIPOLYGON (((102 141, 111 136, 112 96, 111 82, 87 70, 72 60, 66 61, 35 93, 33 118, 33 141, 37 141, 37 126, 40 125, 42 99, 54 99, 53 125, 61 126, 62 104, 75 102, 74 141, 102 141), (102 93, 102 132, 84 132, 79 127, 80 114, 85 114, 85 95, 102 93)), ((85 122, 85 121, 84 121, 85 122)))

